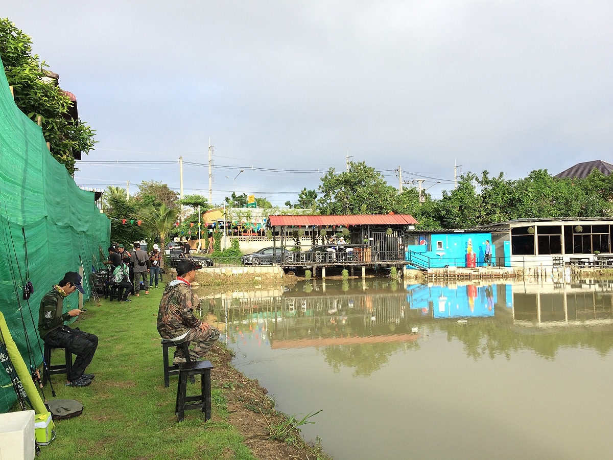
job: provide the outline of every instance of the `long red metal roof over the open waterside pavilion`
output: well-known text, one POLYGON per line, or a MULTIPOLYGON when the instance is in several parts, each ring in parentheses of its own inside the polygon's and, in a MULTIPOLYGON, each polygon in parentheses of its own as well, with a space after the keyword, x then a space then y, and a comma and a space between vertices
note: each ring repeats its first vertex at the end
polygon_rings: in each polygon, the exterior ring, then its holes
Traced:
POLYGON ((293 215, 270 216, 266 226, 329 226, 329 225, 415 225, 418 222, 408 214, 354 214, 354 215, 293 215))

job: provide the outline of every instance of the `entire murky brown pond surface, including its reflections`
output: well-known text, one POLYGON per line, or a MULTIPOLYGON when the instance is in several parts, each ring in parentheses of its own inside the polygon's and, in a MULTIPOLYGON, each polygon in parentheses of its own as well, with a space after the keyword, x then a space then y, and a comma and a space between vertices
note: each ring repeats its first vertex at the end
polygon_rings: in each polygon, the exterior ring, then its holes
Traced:
POLYGON ((613 282, 321 280, 210 296, 235 366, 336 460, 611 458, 613 282))

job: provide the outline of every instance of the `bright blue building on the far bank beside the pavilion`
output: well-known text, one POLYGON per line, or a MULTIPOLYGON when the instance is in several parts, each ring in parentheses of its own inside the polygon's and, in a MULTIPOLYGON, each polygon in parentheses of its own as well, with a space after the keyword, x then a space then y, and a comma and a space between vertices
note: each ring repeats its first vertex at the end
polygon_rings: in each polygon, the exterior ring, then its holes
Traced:
POLYGON ((489 232, 431 231, 405 237, 406 260, 418 268, 466 267, 468 247, 476 255, 476 266, 484 266, 485 240, 490 242, 492 260, 496 260, 492 234, 489 232))

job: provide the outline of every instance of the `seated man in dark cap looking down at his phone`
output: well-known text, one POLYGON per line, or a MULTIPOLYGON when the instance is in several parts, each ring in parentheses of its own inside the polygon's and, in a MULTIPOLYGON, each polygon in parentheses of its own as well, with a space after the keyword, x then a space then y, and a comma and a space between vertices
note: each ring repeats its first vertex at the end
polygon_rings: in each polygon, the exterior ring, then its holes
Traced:
POLYGON ((82 310, 73 309, 64 312, 64 297, 78 289, 83 292, 82 278, 77 272, 67 272, 64 278, 53 289, 44 295, 40 301, 39 335, 40 339, 50 347, 63 347, 73 355, 77 355, 70 374, 66 375, 66 386, 88 386, 94 379, 94 374, 84 374, 85 368, 94 358, 98 337, 78 328, 70 328, 64 324, 82 310))

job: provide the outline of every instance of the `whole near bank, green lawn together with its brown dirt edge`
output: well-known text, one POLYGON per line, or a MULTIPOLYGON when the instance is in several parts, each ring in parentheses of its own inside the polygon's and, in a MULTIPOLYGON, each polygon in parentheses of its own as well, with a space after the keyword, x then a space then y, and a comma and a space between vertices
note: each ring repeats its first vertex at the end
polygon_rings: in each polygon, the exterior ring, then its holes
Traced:
MULTIPOLYGON (((163 286, 132 302, 87 302, 87 312, 73 324, 99 337, 87 372, 96 374, 85 388, 64 386, 53 375, 57 399, 77 399, 84 406, 77 418, 58 421, 56 440, 42 448, 50 459, 314 459, 329 458, 317 446, 302 442, 294 431, 283 442, 270 440, 268 426, 287 417, 276 412, 257 381, 230 365, 223 345, 210 351, 213 414, 188 410, 177 423, 177 376, 164 388, 162 347, 156 318, 163 286)), ((74 302, 74 300, 73 300, 74 302)), ((62 356, 54 355, 56 361, 62 356)), ((188 394, 200 388, 188 384, 188 394)), ((51 397, 47 385, 45 394, 51 397)))

